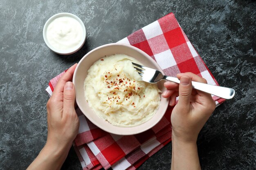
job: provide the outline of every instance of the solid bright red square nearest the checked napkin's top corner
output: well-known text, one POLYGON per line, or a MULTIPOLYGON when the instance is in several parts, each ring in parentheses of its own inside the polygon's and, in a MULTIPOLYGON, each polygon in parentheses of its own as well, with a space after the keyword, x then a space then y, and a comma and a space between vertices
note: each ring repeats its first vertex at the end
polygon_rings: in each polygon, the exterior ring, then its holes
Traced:
POLYGON ((186 42, 180 27, 164 33, 164 37, 170 49, 186 42))

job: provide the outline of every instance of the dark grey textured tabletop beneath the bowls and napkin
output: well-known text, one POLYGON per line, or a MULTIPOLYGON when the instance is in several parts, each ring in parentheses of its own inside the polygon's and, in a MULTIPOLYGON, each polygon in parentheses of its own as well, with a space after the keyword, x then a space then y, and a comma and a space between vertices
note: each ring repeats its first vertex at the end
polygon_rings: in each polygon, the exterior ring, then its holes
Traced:
MULTIPOLYGON (((117 42, 174 12, 191 43, 222 86, 236 96, 200 132, 203 170, 256 167, 256 2, 251 0, 7 0, 0 1, 0 169, 25 169, 47 137, 49 79, 97 46, 117 42), (43 26, 59 12, 83 20, 87 40, 69 56, 50 51, 43 26)), ((139 170, 168 170, 171 144, 139 170)), ((63 170, 81 170, 73 149, 63 170)))

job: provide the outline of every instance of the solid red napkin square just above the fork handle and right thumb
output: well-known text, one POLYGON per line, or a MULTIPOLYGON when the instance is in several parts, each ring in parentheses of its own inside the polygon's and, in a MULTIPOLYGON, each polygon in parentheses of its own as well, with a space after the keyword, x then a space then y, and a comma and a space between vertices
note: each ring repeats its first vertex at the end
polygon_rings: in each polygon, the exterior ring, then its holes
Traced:
POLYGON ((195 63, 194 58, 191 58, 189 60, 186 60, 180 64, 177 64, 181 73, 191 72, 194 74, 199 74, 200 71, 198 69, 198 66, 195 63))

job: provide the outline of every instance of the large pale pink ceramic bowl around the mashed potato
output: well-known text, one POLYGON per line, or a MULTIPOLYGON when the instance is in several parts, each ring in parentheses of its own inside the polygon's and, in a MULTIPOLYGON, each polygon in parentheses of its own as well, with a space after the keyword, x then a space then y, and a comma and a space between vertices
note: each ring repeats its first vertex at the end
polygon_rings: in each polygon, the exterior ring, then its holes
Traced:
MULTIPOLYGON (((93 49, 89 53, 87 53, 76 66, 76 70, 74 71, 73 83, 76 89, 76 103, 83 112, 83 114, 96 126, 99 128, 113 133, 117 135, 134 135, 137 133, 144 132, 153 126, 155 126, 164 116, 166 109, 168 107, 168 99, 163 98, 161 95, 161 102, 159 109, 155 113, 155 115, 144 124, 134 126, 134 127, 118 127, 113 126, 108 121, 101 119, 97 116, 96 113, 89 107, 88 103, 85 100, 85 95, 83 91, 83 82, 87 75, 87 70, 90 68, 94 62, 104 57, 105 55, 113 55, 113 54, 126 54, 131 57, 134 57, 143 65, 155 68, 159 71, 162 69, 158 66, 158 64, 144 51, 137 49, 134 46, 130 46, 127 44, 113 43, 106 44, 103 46, 99 46, 96 49, 93 49)), ((161 81, 158 83, 158 88, 161 91, 164 91, 164 82, 161 81)))

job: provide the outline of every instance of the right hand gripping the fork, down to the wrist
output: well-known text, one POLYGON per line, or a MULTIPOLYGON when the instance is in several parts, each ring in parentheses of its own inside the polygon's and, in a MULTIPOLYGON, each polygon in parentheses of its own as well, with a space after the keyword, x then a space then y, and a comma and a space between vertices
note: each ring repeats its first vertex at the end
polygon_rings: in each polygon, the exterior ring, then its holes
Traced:
POLYGON ((177 74, 180 84, 165 82, 167 90, 163 97, 170 97, 170 105, 177 105, 171 114, 172 135, 178 141, 196 142, 198 134, 215 110, 216 104, 211 95, 192 89, 191 79, 195 82, 207 83, 205 79, 193 73, 177 74))

